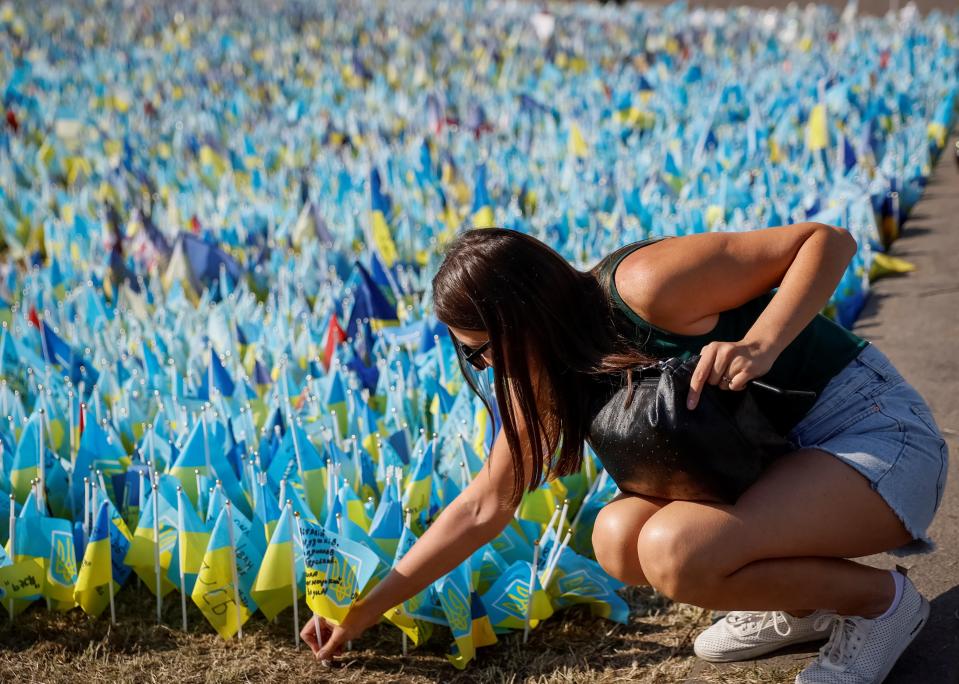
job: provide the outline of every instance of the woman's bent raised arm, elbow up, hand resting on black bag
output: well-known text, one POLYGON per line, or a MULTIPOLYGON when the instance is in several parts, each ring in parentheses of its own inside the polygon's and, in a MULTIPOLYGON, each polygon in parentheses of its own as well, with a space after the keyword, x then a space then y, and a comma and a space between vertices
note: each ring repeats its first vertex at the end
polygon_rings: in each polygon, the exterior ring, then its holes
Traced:
POLYGON ((617 269, 616 275, 625 288, 620 294, 637 313, 689 335, 709 331, 720 312, 778 286, 742 340, 703 348, 690 382, 689 404, 695 408, 707 382, 716 385, 726 376, 729 389, 741 390, 768 372, 829 301, 855 253, 848 231, 797 223, 663 240, 627 257, 626 274, 620 279, 617 269))

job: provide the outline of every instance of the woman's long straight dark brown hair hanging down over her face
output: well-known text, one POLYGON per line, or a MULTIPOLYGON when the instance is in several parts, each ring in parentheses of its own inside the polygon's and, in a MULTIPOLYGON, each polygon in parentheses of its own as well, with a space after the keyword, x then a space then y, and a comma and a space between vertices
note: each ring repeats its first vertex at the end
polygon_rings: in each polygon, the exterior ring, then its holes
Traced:
MULTIPOLYGON (((489 335, 496 404, 514 465, 514 504, 544 477, 579 470, 596 389, 618 374, 631 384, 630 369, 652 360, 636 347, 635 324, 610 295, 607 267, 628 247, 579 271, 525 233, 473 229, 449 243, 433 277, 436 317, 489 335), (540 390, 548 396, 548 410, 535 401, 530 359, 543 372, 540 390), (509 401, 510 388, 518 406, 509 401), (527 426, 532 473, 524 472, 517 413, 527 426)), ((489 398, 479 389, 480 376, 454 346, 467 383, 492 416, 489 398)))

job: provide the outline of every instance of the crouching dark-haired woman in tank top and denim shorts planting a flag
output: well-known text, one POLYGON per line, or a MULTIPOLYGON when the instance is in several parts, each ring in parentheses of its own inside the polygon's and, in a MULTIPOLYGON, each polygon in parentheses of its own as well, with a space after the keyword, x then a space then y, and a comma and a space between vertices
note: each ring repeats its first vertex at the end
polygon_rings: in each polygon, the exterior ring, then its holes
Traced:
POLYGON ((881 681, 929 604, 904 575, 848 559, 928 543, 947 453, 888 359, 819 314, 855 250, 845 230, 801 223, 634 243, 584 273, 516 231, 459 236, 433 279, 435 313, 474 390, 472 368, 493 367, 502 429, 484 471, 390 575, 324 625, 322 648, 304 630, 314 652, 330 659, 495 537, 525 489, 575 472, 597 383, 701 353, 694 410, 707 383, 816 392, 811 406, 765 405, 795 451, 734 504, 621 493, 596 519, 597 560, 628 584, 732 611, 696 639, 707 660, 828 636, 797 682, 881 681))

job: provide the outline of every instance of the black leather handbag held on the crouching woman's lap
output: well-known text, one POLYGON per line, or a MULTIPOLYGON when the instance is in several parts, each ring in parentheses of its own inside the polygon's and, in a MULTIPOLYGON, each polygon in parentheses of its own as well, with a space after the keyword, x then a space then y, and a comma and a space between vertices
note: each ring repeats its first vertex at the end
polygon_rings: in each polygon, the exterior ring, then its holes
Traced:
POLYGON ((622 491, 732 503, 791 450, 753 393, 812 393, 755 380, 735 392, 707 384, 690 411, 686 395, 698 361, 664 359, 635 369, 631 390, 610 385, 597 393, 587 442, 622 491))

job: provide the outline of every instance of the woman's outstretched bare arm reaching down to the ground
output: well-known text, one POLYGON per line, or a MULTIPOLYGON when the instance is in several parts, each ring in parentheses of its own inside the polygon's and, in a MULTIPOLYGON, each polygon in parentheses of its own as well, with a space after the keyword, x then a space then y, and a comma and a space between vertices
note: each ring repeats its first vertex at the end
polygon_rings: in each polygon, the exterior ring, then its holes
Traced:
MULTIPOLYGON (((526 440, 522 423, 521 443, 526 440)), ((524 453, 526 472, 532 459, 524 453)), ((509 502, 513 485, 513 462, 502 430, 493 442, 487 467, 450 503, 403 556, 389 575, 363 599, 356 602, 343 624, 323 629, 323 645, 317 643, 315 630, 308 624, 303 638, 320 660, 339 653, 350 639, 376 624, 380 616, 415 596, 457 565, 483 544, 499 534, 516 510, 509 502)))

